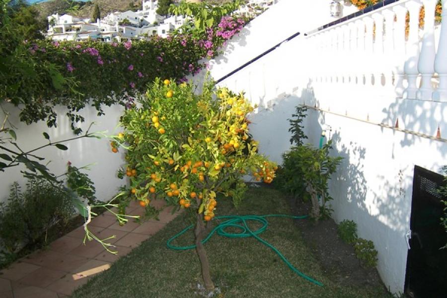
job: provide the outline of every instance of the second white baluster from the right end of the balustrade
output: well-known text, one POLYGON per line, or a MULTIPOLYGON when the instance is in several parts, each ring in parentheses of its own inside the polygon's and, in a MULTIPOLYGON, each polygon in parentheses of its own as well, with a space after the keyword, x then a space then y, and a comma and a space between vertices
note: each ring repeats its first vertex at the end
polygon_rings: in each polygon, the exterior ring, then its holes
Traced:
POLYGON ((435 73, 435 7, 438 0, 423 0, 425 8, 424 37, 418 70, 422 74, 421 87, 417 99, 431 100, 433 94, 432 77, 435 73))

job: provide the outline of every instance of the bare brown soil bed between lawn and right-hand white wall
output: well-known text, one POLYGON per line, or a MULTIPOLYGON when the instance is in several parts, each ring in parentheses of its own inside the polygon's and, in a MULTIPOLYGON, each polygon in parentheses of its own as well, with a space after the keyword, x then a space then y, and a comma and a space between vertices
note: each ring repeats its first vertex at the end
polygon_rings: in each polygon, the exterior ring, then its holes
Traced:
MULTIPOLYGON (((296 215, 309 214, 310 202, 290 199, 296 215)), ((356 258, 354 246, 344 243, 337 234, 337 224, 332 219, 295 221, 302 237, 318 259, 322 269, 332 281, 342 286, 384 287, 375 268, 364 268, 356 258)))

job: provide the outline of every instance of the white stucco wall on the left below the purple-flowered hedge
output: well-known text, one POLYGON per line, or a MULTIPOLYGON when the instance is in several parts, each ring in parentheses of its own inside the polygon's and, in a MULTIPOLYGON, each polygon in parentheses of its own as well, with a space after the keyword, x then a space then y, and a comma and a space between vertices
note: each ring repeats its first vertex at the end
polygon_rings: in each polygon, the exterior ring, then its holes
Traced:
MULTIPOLYGON (((3 105, 3 108, 11 113, 8 120, 15 126, 14 131, 17 133, 17 144, 25 151, 48 144, 42 135, 43 132, 47 132, 50 135, 52 142, 75 137, 70 128, 70 121, 65 116, 65 111, 62 108, 58 109, 57 128, 48 128, 44 122, 27 126, 18 120, 17 108, 12 105, 3 105)), ((108 135, 116 135, 119 132, 117 124, 123 108, 121 106, 105 107, 104 112, 105 116, 98 117, 94 108, 87 107, 84 109, 81 113, 86 119, 86 122, 81 125, 84 132, 91 122, 95 122, 90 132, 107 131, 108 135)), ((4 119, 1 111, 0 119, 2 121, 4 119)), ((69 148, 66 151, 55 147, 47 147, 35 153, 38 156, 45 157, 42 163, 50 162, 48 168, 56 175, 67 171, 68 161, 71 161, 76 167, 91 164, 90 170, 85 172, 94 182, 97 199, 103 201, 110 200, 118 192, 118 187, 125 183, 124 180, 116 177, 117 170, 124 164, 122 154, 113 153, 109 141, 105 138, 82 138, 64 144, 69 148)), ((15 166, 7 168, 5 172, 0 172, 0 202, 6 201, 8 198, 12 182, 18 181, 22 188, 25 187, 26 180, 20 173, 20 170, 24 169, 24 166, 15 166)))

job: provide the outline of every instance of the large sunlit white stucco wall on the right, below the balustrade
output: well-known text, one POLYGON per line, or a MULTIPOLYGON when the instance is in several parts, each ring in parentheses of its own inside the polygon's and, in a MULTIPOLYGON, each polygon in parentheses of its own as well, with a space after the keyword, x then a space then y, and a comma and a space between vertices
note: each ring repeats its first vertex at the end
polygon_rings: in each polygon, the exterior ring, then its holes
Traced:
MULTIPOLYGON (((280 1, 247 25, 224 55, 210 62, 212 76, 219 79, 297 31, 330 22, 328 15, 325 0, 280 1)), ((314 56, 301 35, 220 83, 244 90, 253 103, 260 104, 251 116, 250 130, 260 141, 261 152, 271 159, 281 162, 281 153, 290 148, 287 119, 303 103, 372 123, 392 126, 399 119, 400 128, 430 136, 436 135, 438 125, 447 132, 447 103, 396 99, 393 88, 378 84, 315 83, 309 77, 319 61, 314 56)), ((336 56, 331 59, 337 61, 336 56)), ((403 292, 404 234, 410 228, 414 166, 438 172, 446 163, 447 144, 343 116, 309 109, 305 119, 309 143, 318 146, 322 129, 330 126, 331 154, 344 157, 329 183, 333 218, 358 224, 359 236, 374 242, 377 269, 386 287, 403 292)))

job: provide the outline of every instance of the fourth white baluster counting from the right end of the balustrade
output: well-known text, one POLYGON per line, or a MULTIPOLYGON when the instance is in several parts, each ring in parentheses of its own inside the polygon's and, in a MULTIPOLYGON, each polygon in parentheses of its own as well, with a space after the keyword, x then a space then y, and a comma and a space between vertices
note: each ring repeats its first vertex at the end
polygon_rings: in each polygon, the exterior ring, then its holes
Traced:
POLYGON ((407 8, 403 5, 397 5, 393 7, 396 13, 396 23, 394 24, 394 61, 395 61, 395 92, 396 97, 401 98, 404 87, 403 80, 405 78, 405 16, 407 14, 407 8))

